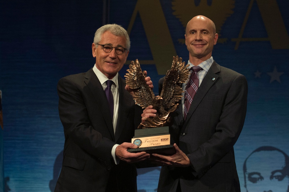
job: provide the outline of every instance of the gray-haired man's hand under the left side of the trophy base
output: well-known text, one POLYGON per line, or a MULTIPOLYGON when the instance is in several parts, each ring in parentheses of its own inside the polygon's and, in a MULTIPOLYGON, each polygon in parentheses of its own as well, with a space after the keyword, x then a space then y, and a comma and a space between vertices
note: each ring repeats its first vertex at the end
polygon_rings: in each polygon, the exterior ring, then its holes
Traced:
POLYGON ((115 155, 119 159, 126 161, 127 163, 136 163, 146 160, 150 157, 150 154, 144 151, 139 153, 129 153, 127 151, 128 148, 136 149, 138 148, 138 146, 132 143, 122 143, 121 145, 116 147, 115 155))

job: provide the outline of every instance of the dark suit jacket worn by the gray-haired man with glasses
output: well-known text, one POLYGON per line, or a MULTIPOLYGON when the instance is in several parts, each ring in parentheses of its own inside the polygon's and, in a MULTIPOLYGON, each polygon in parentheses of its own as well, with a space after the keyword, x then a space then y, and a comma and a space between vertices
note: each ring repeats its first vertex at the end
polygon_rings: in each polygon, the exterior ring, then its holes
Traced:
POLYGON ((118 122, 114 136, 108 101, 92 69, 58 82, 65 143, 55 191, 105 191, 109 182, 115 186, 117 183, 119 191, 137 191, 136 167, 124 161, 115 165, 111 155, 114 144, 131 142, 134 129, 141 121, 141 108, 124 89, 125 81, 120 77, 118 86, 118 122))

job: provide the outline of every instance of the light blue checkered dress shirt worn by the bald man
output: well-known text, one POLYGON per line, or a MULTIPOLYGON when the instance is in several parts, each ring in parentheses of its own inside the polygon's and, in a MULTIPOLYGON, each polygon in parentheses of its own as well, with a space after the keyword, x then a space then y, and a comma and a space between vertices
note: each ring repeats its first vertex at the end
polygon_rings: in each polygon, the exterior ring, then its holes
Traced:
MULTIPOLYGON (((203 70, 200 70, 198 72, 198 76, 199 76, 199 87, 205 77, 205 75, 207 74, 208 70, 210 69, 210 67, 212 66, 214 62, 213 57, 210 57, 210 59, 207 59, 206 61, 203 61, 202 63, 200 63, 198 66, 202 67, 203 70)), ((194 65, 190 62, 190 60, 188 61, 188 64, 190 65, 188 68, 193 67, 194 65)), ((183 84, 182 88, 185 91, 186 90, 186 86, 188 84, 188 81, 186 83, 183 84)), ((181 95, 183 95, 182 99, 181 99, 181 104, 183 107, 183 116, 184 116, 184 105, 185 105, 185 92, 182 93, 181 95)))

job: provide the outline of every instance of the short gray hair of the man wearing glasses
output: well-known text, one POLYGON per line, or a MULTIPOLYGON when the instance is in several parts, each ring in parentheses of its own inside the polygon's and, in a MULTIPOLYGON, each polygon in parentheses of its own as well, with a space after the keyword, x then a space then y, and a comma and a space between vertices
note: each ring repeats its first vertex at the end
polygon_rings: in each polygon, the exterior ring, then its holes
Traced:
POLYGON ((129 35, 127 31, 121 25, 117 25, 117 24, 107 24, 97 29, 94 35, 94 40, 93 40, 94 44, 97 45, 101 41, 101 36, 105 31, 109 31, 110 33, 116 36, 125 37, 126 39, 125 48, 129 50, 130 48, 129 35))

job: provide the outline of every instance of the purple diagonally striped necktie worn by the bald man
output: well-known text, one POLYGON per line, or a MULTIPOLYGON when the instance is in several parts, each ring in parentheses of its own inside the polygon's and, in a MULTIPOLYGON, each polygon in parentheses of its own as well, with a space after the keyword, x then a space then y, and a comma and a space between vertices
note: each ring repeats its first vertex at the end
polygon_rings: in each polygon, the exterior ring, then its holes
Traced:
POLYGON ((189 78, 186 91, 185 91, 185 107, 184 107, 184 119, 186 119, 188 111, 190 109, 191 103, 194 99, 194 96, 197 93, 199 87, 199 76, 198 72, 202 69, 200 66, 193 66, 190 70, 192 70, 192 74, 189 78))

